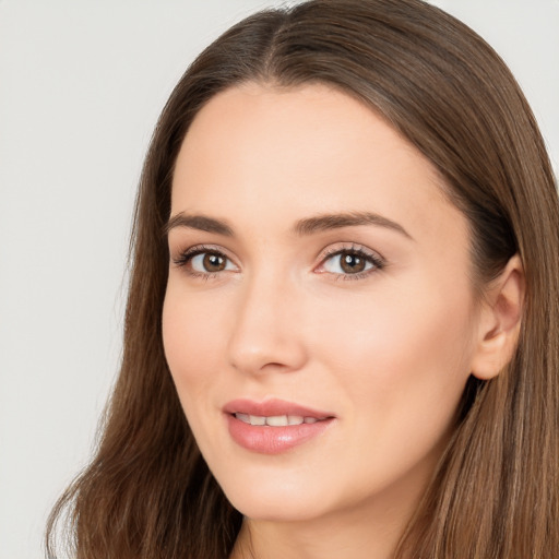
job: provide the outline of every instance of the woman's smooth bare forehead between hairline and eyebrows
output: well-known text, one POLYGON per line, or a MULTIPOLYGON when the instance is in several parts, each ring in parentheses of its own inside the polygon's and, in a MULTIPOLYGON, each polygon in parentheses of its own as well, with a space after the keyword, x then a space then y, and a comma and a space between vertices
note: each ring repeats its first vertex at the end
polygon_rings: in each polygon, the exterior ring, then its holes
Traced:
POLYGON ((412 235, 448 235, 465 221, 441 185, 426 157, 349 95, 322 84, 249 83, 219 93, 193 120, 171 213, 211 211, 250 227, 371 211, 404 221, 412 235))

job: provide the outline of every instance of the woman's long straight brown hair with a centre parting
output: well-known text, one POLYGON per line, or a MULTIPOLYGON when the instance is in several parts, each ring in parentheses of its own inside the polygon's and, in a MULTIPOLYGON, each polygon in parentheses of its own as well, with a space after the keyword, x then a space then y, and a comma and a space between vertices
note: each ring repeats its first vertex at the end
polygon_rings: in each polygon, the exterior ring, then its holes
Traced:
POLYGON ((231 550, 241 515, 185 419, 160 318, 178 150, 200 108, 246 81, 328 83, 382 115, 439 169, 467 216, 481 290, 520 254, 526 300, 514 358, 493 380, 468 381, 461 420, 396 556, 555 559, 559 203, 551 167, 504 63, 420 0, 313 0, 258 13, 213 43, 176 86, 139 190, 122 368, 96 454, 51 514, 49 557, 60 519, 76 559, 223 559, 231 550))

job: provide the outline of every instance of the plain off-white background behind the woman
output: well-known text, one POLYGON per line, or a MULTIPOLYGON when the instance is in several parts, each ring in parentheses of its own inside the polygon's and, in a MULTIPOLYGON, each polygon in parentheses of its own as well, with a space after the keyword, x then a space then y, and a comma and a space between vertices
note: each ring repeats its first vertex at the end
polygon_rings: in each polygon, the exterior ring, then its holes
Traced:
MULTIPOLYGON (((0 559, 43 557, 117 370, 142 158, 194 55, 264 0, 0 0, 0 559)), ((559 163, 559 0, 440 0, 559 163)))

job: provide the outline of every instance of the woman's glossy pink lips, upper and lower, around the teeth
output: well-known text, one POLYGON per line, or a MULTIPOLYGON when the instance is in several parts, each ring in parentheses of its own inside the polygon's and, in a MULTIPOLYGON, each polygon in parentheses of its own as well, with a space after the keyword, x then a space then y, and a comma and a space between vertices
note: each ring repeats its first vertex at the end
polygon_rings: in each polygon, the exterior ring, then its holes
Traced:
POLYGON ((280 454, 299 447, 322 435, 335 417, 333 414, 312 409, 283 400, 234 400, 223 408, 231 439, 246 450, 260 454, 280 454), (249 425, 235 417, 235 414, 257 416, 302 416, 317 419, 316 423, 287 425, 282 427, 249 425))

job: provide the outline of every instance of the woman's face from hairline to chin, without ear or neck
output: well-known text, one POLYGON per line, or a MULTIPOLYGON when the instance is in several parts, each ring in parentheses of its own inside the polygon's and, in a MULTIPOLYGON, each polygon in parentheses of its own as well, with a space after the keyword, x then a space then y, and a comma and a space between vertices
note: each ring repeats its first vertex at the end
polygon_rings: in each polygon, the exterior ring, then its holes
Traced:
POLYGON ((230 88, 185 139, 168 239, 165 352, 233 504, 409 510, 476 347, 467 224, 431 164, 324 85, 230 88))

